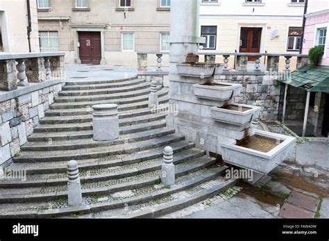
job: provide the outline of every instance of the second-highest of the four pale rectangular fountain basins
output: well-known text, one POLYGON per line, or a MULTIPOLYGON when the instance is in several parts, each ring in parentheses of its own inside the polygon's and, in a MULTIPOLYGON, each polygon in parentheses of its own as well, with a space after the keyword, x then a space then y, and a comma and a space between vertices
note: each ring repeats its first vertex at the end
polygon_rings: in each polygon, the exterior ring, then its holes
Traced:
POLYGON ((240 94, 242 85, 234 83, 205 83, 193 85, 193 92, 203 99, 226 101, 240 94))

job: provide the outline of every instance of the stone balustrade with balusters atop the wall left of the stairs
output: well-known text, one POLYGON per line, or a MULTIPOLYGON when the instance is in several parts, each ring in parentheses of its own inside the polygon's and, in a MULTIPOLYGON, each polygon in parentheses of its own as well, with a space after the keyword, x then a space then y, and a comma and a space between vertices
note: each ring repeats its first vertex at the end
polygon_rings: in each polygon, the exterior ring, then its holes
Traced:
POLYGON ((0 90, 64 77, 65 53, 1 53, 0 90))

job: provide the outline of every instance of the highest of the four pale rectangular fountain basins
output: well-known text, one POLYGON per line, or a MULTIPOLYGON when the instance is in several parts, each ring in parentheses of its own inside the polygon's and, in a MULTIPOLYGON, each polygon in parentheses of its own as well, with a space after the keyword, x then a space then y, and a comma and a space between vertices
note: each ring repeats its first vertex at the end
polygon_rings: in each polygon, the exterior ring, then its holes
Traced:
POLYGON ((182 76, 209 78, 220 66, 215 63, 180 63, 177 64, 177 72, 182 76))

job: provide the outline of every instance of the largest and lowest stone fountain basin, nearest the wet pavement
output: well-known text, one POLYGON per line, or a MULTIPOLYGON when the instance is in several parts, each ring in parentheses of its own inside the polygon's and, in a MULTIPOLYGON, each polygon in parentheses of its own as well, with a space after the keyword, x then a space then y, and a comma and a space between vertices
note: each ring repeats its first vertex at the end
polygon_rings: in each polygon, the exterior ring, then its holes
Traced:
MULTIPOLYGON (((239 142, 223 143, 221 144, 222 158, 226 163, 251 169, 261 174, 268 174, 282 163, 296 145, 296 138, 267 131, 255 130, 248 138, 253 138, 253 141, 248 144, 255 146, 255 148, 239 146, 239 142), (256 144, 253 144, 253 142, 256 144), (267 144, 267 142, 275 144, 271 147, 271 144, 267 144), (262 151, 258 151, 258 148, 262 149, 262 151)), ((242 140, 242 142, 245 141, 242 140)))

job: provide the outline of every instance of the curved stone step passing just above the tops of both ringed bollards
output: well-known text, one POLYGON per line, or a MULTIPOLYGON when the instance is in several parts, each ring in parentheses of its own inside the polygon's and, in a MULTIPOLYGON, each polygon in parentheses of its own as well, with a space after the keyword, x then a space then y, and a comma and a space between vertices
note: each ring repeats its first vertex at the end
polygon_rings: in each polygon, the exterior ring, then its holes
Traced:
POLYGON ((108 147, 94 147, 79 150, 67 150, 67 151, 24 151, 21 155, 15 158, 16 163, 31 163, 31 162, 53 162, 62 160, 81 160, 89 158, 101 158, 106 156, 132 153, 135 151, 142 151, 145 149, 151 149, 160 147, 165 144, 171 144, 173 142, 179 142, 185 138, 181 135, 167 135, 161 138, 155 138, 150 140, 143 140, 141 142, 134 142, 127 146, 115 145, 108 147))

